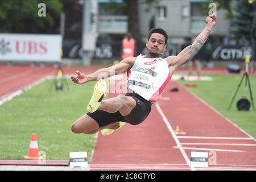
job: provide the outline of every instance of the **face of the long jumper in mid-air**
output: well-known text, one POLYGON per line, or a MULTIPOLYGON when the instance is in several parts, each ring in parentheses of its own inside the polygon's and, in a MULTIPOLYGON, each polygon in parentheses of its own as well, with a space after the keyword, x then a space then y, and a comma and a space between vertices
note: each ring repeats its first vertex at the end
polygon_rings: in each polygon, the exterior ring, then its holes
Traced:
MULTIPOLYGON (((159 33, 153 33, 150 36, 150 39, 148 39, 148 41, 146 43, 146 47, 150 48, 156 52, 160 52, 162 54, 164 52, 164 49, 166 49, 164 36, 159 33)), ((150 51, 150 50, 148 50, 148 51, 150 51)))

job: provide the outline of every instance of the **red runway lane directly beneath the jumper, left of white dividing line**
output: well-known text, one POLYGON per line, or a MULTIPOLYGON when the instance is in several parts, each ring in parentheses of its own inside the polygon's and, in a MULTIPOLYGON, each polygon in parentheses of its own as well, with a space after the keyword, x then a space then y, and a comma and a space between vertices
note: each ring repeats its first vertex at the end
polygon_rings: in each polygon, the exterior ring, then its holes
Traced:
POLYGON ((98 134, 90 170, 190 169, 174 145, 174 138, 153 108, 140 125, 126 124, 108 136, 98 134))

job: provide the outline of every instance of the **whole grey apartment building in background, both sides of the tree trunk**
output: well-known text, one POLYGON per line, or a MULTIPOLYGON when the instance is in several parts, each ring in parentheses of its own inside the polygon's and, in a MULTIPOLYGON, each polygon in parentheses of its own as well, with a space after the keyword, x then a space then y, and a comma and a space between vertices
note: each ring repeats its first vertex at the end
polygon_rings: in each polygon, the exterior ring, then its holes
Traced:
MULTIPOLYGON (((124 35, 127 32, 127 16, 122 11, 122 0, 117 0, 120 11, 113 14, 108 10, 109 0, 98 0, 98 32, 100 34, 124 35)), ((142 39, 146 41, 150 30, 150 20, 154 16, 155 27, 162 27, 167 31, 173 43, 182 44, 191 36, 198 35, 205 26, 205 12, 201 4, 208 0, 162 0, 150 7, 139 1, 139 30, 142 39)), ((210 10, 210 8, 209 8, 210 10)), ((132 11, 132 10, 131 10, 132 11)), ((226 19, 225 10, 217 10, 218 23, 211 35, 224 37, 229 34, 230 20, 226 19)))

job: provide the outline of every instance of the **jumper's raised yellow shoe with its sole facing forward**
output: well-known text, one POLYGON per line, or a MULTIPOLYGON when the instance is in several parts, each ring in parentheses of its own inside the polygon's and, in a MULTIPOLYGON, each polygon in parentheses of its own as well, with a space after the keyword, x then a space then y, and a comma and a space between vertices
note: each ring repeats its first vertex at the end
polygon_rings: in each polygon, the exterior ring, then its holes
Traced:
POLYGON ((97 81, 97 83, 95 84, 92 98, 90 99, 90 102, 87 106, 87 110, 90 113, 93 113, 94 111, 96 111, 98 107, 101 105, 101 101, 105 96, 105 92, 106 92, 106 81, 101 79, 97 81))

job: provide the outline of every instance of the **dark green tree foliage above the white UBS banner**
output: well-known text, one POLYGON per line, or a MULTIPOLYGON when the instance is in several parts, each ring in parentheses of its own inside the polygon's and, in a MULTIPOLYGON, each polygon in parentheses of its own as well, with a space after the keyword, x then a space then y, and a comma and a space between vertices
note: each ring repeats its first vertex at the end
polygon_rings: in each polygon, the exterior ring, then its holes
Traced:
POLYGON ((56 33, 62 11, 61 0, 1 0, 0 31, 12 33, 56 33), (46 4, 46 17, 39 17, 38 4, 46 4), (56 23, 58 22, 58 23, 56 23))

